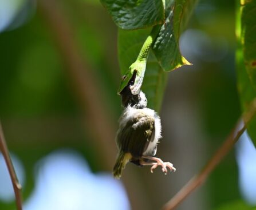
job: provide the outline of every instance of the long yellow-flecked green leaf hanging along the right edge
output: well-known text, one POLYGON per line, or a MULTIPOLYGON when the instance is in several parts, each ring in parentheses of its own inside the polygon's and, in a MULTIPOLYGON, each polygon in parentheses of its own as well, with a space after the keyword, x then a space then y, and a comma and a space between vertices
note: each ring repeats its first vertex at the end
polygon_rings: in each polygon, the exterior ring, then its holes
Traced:
MULTIPOLYGON (((256 11, 256 1, 247 2, 243 6, 238 1, 237 9, 238 48, 236 60, 238 92, 242 110, 247 112, 251 102, 256 98, 256 20, 253 18, 254 11, 256 11)), ((256 145, 256 116, 250 121, 247 131, 256 145)))

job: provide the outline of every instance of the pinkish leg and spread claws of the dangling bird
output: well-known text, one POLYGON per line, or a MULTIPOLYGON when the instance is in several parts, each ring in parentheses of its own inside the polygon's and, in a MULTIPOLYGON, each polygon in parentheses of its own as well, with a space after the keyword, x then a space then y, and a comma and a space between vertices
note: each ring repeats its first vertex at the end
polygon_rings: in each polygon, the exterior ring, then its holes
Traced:
POLYGON ((145 162, 144 160, 140 160, 141 165, 152 165, 150 171, 153 173, 153 169, 157 168, 159 165, 162 167, 162 171, 167 174, 168 170, 167 168, 170 169, 170 171, 176 171, 176 168, 173 167, 173 165, 170 162, 163 162, 161 159, 158 157, 151 157, 151 156, 142 156, 143 159, 148 159, 148 160, 153 160, 156 162, 145 162))

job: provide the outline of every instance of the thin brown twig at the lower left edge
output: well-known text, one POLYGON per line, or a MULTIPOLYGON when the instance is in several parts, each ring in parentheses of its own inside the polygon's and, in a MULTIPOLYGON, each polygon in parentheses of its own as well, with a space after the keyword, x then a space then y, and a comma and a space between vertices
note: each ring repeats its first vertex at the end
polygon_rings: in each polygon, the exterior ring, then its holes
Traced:
POLYGON ((6 145, 5 136, 3 135, 1 122, 0 122, 0 150, 3 154, 3 158, 5 159, 5 163, 8 168, 8 171, 11 177, 11 183, 13 183, 17 209, 22 210, 21 184, 19 184, 17 175, 13 167, 13 163, 11 163, 11 158, 10 158, 9 150, 6 145))

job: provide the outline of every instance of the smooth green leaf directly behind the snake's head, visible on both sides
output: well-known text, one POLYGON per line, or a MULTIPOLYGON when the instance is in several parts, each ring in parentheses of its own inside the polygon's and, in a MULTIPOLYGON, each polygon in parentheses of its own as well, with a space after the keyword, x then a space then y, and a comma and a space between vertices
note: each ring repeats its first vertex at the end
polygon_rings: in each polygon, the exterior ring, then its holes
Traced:
MULTIPOLYGON (((119 64, 123 75, 129 66, 136 60, 141 46, 150 34, 151 29, 141 29, 136 31, 119 30, 119 64)), ((148 99, 148 108, 159 112, 164 88, 167 82, 167 73, 157 63, 152 51, 149 53, 147 68, 141 90, 148 99)))

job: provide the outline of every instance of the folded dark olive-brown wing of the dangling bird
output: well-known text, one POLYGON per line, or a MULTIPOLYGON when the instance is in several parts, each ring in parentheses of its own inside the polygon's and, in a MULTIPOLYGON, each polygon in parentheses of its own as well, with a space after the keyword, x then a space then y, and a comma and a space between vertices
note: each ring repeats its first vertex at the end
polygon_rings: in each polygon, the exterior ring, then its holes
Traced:
POLYGON ((123 152, 140 157, 155 136, 155 119, 140 109, 127 120, 117 133, 117 145, 123 152))

